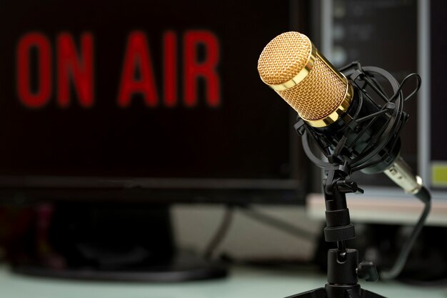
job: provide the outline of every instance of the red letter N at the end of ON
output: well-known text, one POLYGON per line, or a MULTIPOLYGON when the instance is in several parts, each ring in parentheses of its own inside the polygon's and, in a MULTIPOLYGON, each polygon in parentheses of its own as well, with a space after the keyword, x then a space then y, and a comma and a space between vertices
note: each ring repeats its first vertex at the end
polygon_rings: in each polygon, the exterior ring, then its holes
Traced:
POLYGON ((71 34, 59 34, 57 38, 57 99, 60 106, 69 106, 70 77, 73 79, 81 106, 87 108, 94 104, 93 51, 91 33, 84 33, 81 36, 81 55, 76 53, 71 34))

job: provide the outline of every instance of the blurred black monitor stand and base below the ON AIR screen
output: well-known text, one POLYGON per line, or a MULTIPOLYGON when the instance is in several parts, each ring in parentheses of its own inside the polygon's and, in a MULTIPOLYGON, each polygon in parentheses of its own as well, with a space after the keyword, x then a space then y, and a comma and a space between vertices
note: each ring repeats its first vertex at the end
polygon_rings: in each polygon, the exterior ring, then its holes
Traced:
POLYGON ((169 205, 65 203, 41 207, 13 272, 68 279, 181 282, 225 277, 174 244, 169 205))

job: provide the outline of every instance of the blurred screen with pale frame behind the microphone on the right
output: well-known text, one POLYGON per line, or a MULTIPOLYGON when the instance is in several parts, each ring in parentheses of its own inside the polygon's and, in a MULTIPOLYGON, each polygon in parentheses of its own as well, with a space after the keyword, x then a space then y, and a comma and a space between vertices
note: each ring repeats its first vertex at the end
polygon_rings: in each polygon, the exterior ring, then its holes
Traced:
MULTIPOLYGON (((431 189, 433 207, 428 224, 446 225, 446 5, 442 1, 327 0, 314 10, 321 16, 313 22, 320 49, 335 66, 360 61, 362 66, 386 69, 399 82, 413 72, 421 75, 421 89, 404 106, 409 119, 401 132, 401 157, 431 189)), ((411 88, 404 88, 404 94, 411 88)), ((348 195, 355 221, 413 224, 418 219, 423 204, 384 174, 355 173, 352 179, 365 189, 365 194, 348 195)), ((322 217, 321 195, 311 195, 308 207, 311 214, 322 217)))

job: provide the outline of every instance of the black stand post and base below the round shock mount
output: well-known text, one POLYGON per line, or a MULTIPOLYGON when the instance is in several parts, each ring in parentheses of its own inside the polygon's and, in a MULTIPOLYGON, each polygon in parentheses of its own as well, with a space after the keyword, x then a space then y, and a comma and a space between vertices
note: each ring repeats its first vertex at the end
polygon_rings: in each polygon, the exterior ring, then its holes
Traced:
POLYGON ((356 182, 348 180, 350 170, 346 165, 331 163, 326 168, 323 180, 326 202, 326 242, 337 242, 336 249, 328 250, 328 283, 325 287, 313 289, 287 298, 384 298, 361 289, 358 278, 368 282, 378 280, 373 262, 358 263, 358 251, 346 248, 346 241, 356 237, 346 204, 346 194, 363 194, 356 182))

